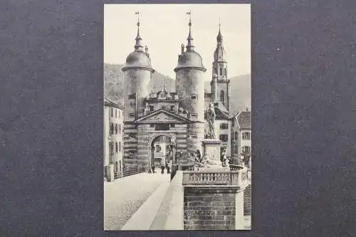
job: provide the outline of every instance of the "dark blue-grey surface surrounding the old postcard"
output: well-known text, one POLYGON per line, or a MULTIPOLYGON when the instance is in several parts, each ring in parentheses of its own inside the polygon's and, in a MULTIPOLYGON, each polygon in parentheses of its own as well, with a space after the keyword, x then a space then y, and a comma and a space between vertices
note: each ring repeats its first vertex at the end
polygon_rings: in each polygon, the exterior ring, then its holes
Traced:
MULTIPOLYGON (((356 3, 286 2, 252 6, 253 231, 224 235, 356 236, 356 3)), ((0 236, 177 235, 102 231, 102 1, 1 1, 0 53, 0 236)))

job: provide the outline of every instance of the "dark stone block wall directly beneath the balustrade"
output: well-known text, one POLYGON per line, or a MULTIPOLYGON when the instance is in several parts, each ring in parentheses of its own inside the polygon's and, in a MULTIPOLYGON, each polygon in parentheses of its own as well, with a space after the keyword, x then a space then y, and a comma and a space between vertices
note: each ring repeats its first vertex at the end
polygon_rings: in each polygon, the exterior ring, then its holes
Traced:
POLYGON ((184 186, 184 230, 235 230, 233 186, 184 186))

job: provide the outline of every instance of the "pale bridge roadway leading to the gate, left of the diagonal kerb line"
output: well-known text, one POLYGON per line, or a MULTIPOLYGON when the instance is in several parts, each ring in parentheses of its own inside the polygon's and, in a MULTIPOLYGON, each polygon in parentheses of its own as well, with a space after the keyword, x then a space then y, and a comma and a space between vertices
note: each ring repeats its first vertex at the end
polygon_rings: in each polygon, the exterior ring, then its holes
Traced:
POLYGON ((104 230, 118 231, 169 174, 135 174, 104 183, 104 230))

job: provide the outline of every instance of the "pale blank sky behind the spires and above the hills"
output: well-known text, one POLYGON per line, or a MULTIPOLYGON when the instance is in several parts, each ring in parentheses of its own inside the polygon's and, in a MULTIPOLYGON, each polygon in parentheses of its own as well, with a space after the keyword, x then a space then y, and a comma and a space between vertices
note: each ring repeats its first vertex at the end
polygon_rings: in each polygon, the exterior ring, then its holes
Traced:
POLYGON ((251 74, 250 4, 105 4, 104 63, 123 64, 134 51, 137 15, 140 11, 142 45, 148 47, 152 67, 175 79, 181 45, 187 45, 189 15, 195 51, 203 58, 205 80, 211 67, 219 33, 228 61, 228 77, 251 74))

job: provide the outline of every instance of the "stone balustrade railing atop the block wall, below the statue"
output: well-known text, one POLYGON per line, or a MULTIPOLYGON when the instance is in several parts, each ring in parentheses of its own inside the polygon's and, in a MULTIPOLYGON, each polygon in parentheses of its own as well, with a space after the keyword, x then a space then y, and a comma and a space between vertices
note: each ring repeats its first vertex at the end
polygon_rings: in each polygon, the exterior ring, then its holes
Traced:
POLYGON ((183 185, 234 185, 246 186, 247 169, 244 167, 230 171, 184 171, 183 185))

